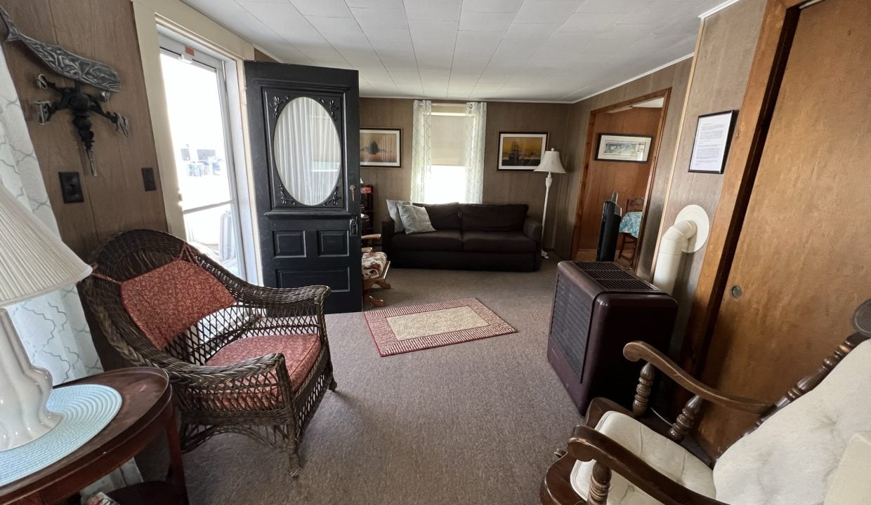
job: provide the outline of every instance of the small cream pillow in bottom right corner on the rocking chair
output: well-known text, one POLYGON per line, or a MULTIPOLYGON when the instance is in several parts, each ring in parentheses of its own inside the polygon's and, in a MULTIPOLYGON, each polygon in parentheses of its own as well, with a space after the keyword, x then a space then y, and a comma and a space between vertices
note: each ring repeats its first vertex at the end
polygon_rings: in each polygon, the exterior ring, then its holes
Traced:
POLYGON ((825 505, 871 503, 871 431, 853 435, 834 471, 825 505))

